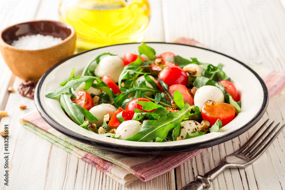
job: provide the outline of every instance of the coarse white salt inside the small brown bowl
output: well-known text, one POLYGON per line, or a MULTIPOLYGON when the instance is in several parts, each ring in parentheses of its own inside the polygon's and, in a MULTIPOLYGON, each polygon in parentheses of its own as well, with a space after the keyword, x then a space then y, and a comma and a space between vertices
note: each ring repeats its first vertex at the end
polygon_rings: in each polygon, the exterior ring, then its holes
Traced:
POLYGON ((23 50, 39 50, 54 46, 62 42, 61 38, 44 36, 41 34, 21 36, 12 42, 12 46, 23 50))

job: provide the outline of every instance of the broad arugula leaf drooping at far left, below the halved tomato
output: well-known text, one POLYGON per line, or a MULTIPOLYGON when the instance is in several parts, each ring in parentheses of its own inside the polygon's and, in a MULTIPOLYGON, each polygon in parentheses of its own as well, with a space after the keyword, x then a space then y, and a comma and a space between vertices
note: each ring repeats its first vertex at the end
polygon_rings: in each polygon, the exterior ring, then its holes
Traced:
POLYGON ((63 93, 60 96, 60 105, 76 124, 82 125, 85 121, 84 117, 91 121, 97 120, 87 109, 73 103, 71 96, 71 93, 63 93))

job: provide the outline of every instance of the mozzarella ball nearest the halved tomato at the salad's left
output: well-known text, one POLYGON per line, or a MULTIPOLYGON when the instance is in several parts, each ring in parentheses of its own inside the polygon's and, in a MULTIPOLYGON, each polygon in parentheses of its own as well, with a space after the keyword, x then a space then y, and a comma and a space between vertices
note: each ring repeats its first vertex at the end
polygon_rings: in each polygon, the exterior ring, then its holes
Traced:
POLYGON ((95 123, 97 128, 103 125, 104 115, 109 114, 110 117, 114 115, 117 109, 111 104, 99 104, 89 110, 89 112, 97 118, 97 121, 90 121, 85 118, 89 123, 95 123))

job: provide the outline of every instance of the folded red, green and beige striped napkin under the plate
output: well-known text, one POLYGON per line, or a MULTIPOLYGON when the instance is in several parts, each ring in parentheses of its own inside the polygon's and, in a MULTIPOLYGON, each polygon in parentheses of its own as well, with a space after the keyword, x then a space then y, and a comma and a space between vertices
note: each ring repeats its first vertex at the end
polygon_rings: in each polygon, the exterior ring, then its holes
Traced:
MULTIPOLYGON (((205 47, 197 41, 188 38, 178 38, 174 40, 174 43, 205 47)), ((262 68, 254 69, 264 79, 268 88, 269 98, 274 97, 284 88, 285 73, 268 71, 268 69, 262 68)), ((175 156, 129 156, 73 140, 48 125, 38 111, 29 113, 20 120, 28 130, 92 164, 121 185, 129 185, 137 179, 144 182, 149 181, 183 164, 204 150, 175 154, 175 156)))

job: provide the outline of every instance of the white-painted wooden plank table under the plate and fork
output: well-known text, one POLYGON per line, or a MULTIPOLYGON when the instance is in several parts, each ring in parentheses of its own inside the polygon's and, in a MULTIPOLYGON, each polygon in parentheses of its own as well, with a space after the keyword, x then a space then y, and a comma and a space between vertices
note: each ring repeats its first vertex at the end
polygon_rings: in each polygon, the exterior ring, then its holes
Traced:
MULTIPOLYGON (((150 0, 152 16, 144 41, 171 42, 177 37, 194 38, 241 61, 277 71, 285 71, 284 0, 150 0), (265 44, 267 38, 272 38, 265 44), (218 42, 218 43, 217 43, 218 42), (263 44, 263 45, 262 45, 263 44), (257 56, 252 55, 257 52, 257 56), (251 58, 252 57, 252 58, 251 58), (251 58, 251 59, 250 59, 251 58)), ((34 19, 58 20, 59 0, 0 1, 0 28, 34 19)), ((242 76, 242 73, 241 73, 242 76)), ((0 130, 9 124, 9 186, 3 185, 4 138, 0 138, 0 187, 3 189, 180 189, 223 162, 270 118, 284 123, 285 99, 269 101, 257 126, 245 134, 208 148, 188 162, 146 183, 139 180, 127 187, 119 185, 95 167, 26 130, 19 117, 35 110, 34 101, 9 94, 21 79, 15 77, 0 59, 0 130), (19 104, 28 105, 22 111, 19 104)), ((285 131, 252 166, 227 169, 211 189, 284 189, 285 131)))

